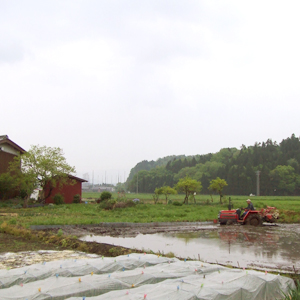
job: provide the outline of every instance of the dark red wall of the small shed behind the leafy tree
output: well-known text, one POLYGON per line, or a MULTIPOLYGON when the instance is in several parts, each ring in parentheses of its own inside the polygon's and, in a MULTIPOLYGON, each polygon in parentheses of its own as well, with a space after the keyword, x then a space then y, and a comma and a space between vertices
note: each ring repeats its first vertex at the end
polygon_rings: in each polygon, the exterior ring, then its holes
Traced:
MULTIPOLYGON (((81 192, 82 192, 81 182, 77 181, 77 180, 74 180, 74 179, 73 179, 73 181, 75 181, 74 185, 65 184, 62 187, 60 187, 59 184, 57 184, 57 186, 51 191, 50 197, 48 197, 46 199, 46 203, 54 203, 53 197, 56 194, 63 195, 64 198, 65 198, 65 203, 68 203, 68 204, 73 203, 73 197, 76 194, 79 194, 80 198, 81 198, 81 195, 82 195, 81 194, 81 192)), ((45 195, 48 195, 48 192, 49 192, 49 187, 46 187, 45 188, 45 195)))

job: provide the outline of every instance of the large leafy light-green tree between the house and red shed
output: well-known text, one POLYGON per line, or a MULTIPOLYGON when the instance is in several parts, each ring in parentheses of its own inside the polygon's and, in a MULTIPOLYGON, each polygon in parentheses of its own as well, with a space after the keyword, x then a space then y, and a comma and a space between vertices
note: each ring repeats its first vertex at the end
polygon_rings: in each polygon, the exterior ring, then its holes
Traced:
POLYGON ((10 172, 22 183, 27 192, 32 187, 40 187, 42 190, 49 186, 49 193, 42 193, 41 201, 44 202, 51 191, 58 184, 60 186, 70 184, 68 175, 75 173, 75 168, 71 167, 60 148, 46 146, 31 146, 28 152, 16 156, 10 165, 10 172), (20 168, 21 166, 21 168, 20 168))

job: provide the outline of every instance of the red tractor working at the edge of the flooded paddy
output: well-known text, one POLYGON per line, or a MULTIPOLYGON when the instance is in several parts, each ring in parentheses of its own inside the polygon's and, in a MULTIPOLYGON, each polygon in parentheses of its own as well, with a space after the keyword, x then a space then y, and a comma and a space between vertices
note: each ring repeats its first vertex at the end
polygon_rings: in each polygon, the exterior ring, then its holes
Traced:
POLYGON ((249 210, 244 216, 241 216, 242 210, 221 210, 219 211, 218 220, 220 225, 242 224, 261 226, 263 222, 274 223, 279 217, 275 207, 267 206, 266 209, 249 210))

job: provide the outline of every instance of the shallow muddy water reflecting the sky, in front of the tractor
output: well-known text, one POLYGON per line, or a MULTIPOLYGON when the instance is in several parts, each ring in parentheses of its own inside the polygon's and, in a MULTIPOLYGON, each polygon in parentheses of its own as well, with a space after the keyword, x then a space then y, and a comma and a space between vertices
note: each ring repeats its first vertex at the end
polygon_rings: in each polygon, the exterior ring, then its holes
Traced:
POLYGON ((300 225, 247 226, 211 225, 196 232, 138 234, 136 237, 85 236, 118 246, 173 252, 182 258, 236 267, 300 271, 300 225))

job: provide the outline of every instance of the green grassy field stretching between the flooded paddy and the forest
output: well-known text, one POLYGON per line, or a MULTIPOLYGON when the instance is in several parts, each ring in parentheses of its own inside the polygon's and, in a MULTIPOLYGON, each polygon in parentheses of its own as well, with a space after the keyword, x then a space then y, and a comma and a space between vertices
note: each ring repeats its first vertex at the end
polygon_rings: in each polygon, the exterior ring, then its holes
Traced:
MULTIPOLYGON (((135 207, 101 210, 95 199, 99 193, 84 193, 83 204, 65 204, 36 208, 15 208, 5 202, 0 203, 0 224, 28 227, 30 225, 62 225, 62 224, 96 224, 100 222, 179 222, 179 221, 212 221, 217 218, 221 209, 227 209, 228 198, 224 204, 219 197, 197 195, 196 204, 175 206, 160 203, 153 204, 151 194, 127 194, 126 198, 139 198, 135 207)), ((118 194, 113 195, 115 198, 118 194)), ((183 195, 170 197, 172 201, 183 202, 183 195)), ((246 207, 247 196, 232 196, 234 208, 246 207)), ((300 197, 251 197, 256 209, 275 206, 280 211, 279 222, 300 223, 300 197)), ((123 199, 124 200, 124 199, 123 199)))

